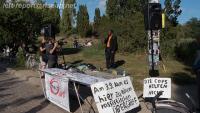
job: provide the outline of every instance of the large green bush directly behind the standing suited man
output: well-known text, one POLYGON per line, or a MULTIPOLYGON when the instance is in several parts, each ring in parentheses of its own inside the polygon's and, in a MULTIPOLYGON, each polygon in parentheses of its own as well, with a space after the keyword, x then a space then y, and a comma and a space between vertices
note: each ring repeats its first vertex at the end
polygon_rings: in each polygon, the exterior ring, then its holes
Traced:
POLYGON ((119 52, 134 53, 147 48, 147 37, 144 30, 143 14, 136 12, 124 18, 110 20, 103 16, 98 33, 101 38, 106 38, 112 29, 118 39, 119 52))

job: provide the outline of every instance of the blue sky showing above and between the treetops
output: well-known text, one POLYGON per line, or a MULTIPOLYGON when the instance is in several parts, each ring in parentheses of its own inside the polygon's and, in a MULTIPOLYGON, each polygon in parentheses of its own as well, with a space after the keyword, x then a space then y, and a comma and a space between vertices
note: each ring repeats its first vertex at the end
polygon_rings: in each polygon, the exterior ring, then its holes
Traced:
MULTIPOLYGON (((46 0, 47 3, 54 3, 54 1, 60 1, 60 0, 46 0)), ((164 8, 164 0, 160 0, 162 3, 162 7, 164 8)), ((181 24, 184 24, 188 20, 190 20, 192 17, 197 17, 200 19, 200 0, 181 0, 181 9, 182 14, 179 16, 178 21, 181 24)), ((101 15, 105 14, 105 5, 106 0, 77 0, 77 4, 86 4, 88 8, 88 13, 90 16, 90 21, 93 21, 94 18, 94 11, 95 8, 100 8, 101 15)), ((78 9, 78 8, 77 8, 78 9)))

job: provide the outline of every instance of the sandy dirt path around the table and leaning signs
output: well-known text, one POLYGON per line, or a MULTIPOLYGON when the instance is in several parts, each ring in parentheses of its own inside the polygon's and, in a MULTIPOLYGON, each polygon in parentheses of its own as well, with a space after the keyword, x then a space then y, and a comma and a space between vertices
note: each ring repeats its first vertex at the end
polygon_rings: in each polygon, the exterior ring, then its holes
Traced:
MULTIPOLYGON (((85 95, 84 99, 91 101, 91 94, 87 88, 81 88, 85 95)), ((185 93, 189 93, 195 100, 196 86, 177 86, 172 85, 172 99, 183 102, 191 106, 186 99, 185 93)), ((137 92, 138 94, 141 94, 137 92)), ((74 113, 81 113, 75 96, 70 96, 70 102, 74 113)), ((94 110, 86 103, 82 103, 84 113, 98 113, 95 103, 92 103, 94 110)), ((138 113, 150 113, 144 103, 141 103, 141 110, 138 113)), ((9 71, 0 66, 0 113, 67 113, 56 105, 45 101, 41 82, 37 72, 20 70, 9 71), (9 72, 9 73, 8 73, 9 72)))

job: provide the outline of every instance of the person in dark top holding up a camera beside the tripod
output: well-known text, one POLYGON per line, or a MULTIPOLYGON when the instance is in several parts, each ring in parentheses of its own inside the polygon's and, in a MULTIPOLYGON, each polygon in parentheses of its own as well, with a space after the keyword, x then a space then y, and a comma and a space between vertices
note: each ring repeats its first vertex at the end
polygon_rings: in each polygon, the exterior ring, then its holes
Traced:
POLYGON ((48 56, 48 68, 57 67, 58 56, 57 56, 58 42, 55 41, 54 37, 50 37, 46 44, 46 55, 48 56))

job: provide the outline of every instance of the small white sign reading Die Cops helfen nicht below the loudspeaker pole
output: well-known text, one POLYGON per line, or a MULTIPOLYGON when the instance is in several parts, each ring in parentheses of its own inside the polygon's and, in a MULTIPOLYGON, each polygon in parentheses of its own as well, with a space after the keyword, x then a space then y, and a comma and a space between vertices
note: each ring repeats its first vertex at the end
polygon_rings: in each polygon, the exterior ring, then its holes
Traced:
POLYGON ((160 98, 171 98, 170 78, 146 78, 144 79, 143 97, 155 97, 158 92, 163 91, 160 98))

